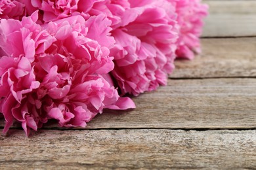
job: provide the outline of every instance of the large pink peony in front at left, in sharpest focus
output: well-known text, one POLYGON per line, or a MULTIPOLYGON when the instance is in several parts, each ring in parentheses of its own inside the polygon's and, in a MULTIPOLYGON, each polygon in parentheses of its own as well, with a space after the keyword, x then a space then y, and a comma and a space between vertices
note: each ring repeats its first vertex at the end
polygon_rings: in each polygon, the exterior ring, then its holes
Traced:
POLYGON ((37 12, 21 22, 3 19, 0 24, 0 47, 5 54, 0 58, 3 133, 14 120, 21 122, 28 135, 50 118, 60 126, 85 127, 104 108, 135 107, 131 99, 119 97, 107 75, 114 68, 108 50, 114 39, 108 36, 104 16, 87 22, 81 16, 45 25, 35 22, 37 12), (94 40, 99 37, 90 35, 91 24, 102 26, 102 33, 100 27, 97 33, 104 41, 99 43, 94 40))

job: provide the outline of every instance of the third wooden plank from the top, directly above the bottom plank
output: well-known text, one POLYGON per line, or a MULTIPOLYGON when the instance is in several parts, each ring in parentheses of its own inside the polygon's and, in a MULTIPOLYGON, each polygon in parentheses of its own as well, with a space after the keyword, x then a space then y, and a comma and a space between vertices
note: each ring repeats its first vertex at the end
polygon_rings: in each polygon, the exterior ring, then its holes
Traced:
MULTIPOLYGON (((137 109, 105 110, 87 128, 251 129, 255 89, 255 78, 169 80, 168 86, 135 97, 137 109)), ((52 127, 57 126, 45 128, 52 127)))

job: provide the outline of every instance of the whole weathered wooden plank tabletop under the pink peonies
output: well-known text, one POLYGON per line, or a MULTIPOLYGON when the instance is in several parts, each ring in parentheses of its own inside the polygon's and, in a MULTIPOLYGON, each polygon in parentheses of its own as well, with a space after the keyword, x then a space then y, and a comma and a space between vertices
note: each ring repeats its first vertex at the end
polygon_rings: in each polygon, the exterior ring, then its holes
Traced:
POLYGON ((0 169, 256 169, 256 37, 239 31, 204 33, 202 55, 176 61, 168 86, 134 98, 137 109, 32 137, 13 126, 0 136, 0 169))

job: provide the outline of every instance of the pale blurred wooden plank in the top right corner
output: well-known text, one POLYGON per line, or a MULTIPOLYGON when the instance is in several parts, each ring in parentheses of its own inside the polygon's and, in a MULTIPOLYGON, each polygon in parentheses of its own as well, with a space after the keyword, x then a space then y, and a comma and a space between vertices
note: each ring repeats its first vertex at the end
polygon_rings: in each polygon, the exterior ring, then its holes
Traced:
POLYGON ((205 18, 203 37, 240 37, 256 35, 256 1, 213 1, 205 18))

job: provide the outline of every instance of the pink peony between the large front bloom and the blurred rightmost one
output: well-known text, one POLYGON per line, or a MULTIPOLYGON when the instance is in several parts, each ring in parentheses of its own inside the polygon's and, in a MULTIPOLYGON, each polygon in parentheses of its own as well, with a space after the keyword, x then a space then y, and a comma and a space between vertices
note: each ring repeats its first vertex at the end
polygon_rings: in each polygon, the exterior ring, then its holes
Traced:
POLYGON ((111 32, 116 40, 112 75, 122 93, 139 95, 167 84, 178 33, 171 3, 165 1, 168 11, 153 1, 129 2, 131 9, 123 9, 121 24, 111 32))

